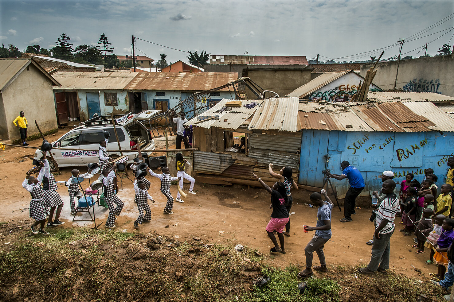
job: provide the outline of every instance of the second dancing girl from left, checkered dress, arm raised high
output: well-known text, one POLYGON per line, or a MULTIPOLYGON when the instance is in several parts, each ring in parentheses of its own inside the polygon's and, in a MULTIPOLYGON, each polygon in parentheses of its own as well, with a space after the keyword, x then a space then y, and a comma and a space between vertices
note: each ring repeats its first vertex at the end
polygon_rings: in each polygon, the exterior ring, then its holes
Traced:
POLYGON ((39 183, 43 183, 43 195, 44 195, 44 204, 50 208, 49 220, 47 222, 47 228, 52 228, 54 226, 64 224, 63 221, 59 220, 61 209, 63 208, 63 200, 60 195, 57 193, 57 182, 55 181, 54 175, 50 173, 49 161, 46 158, 46 152, 43 152, 43 161, 44 167, 41 168, 38 175, 39 183), (57 209, 54 218, 54 212, 57 209))

